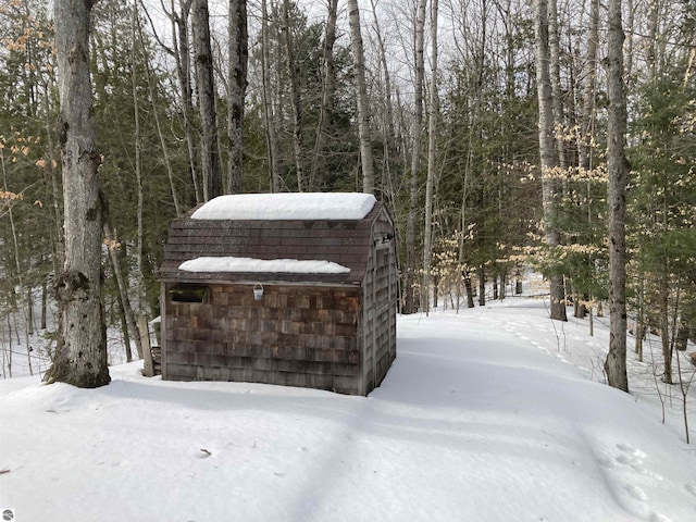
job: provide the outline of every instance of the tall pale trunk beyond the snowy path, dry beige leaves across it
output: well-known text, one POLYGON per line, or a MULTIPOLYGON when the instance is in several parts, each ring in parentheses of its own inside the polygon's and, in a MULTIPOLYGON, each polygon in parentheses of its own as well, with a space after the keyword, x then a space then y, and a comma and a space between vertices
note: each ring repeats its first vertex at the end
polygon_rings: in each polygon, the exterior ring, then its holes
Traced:
MULTIPOLYGON (((542 160, 542 191, 544 206, 545 241, 552 259, 554 251, 560 245, 557 228, 557 182, 554 170, 558 166, 554 149, 554 105, 549 72, 550 52, 548 41, 548 5, 546 0, 536 0, 536 87, 539 102, 539 156, 542 160)), ((555 268, 549 274, 550 318, 567 321, 566 290, 563 276, 555 268)))

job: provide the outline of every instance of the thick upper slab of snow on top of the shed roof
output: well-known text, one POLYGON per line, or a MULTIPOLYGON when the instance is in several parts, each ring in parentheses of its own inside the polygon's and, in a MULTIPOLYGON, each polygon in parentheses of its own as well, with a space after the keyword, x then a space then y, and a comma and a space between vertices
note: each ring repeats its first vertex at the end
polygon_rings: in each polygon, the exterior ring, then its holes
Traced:
POLYGON ((211 199, 194 220, 362 220, 374 207, 371 194, 234 194, 211 199))

